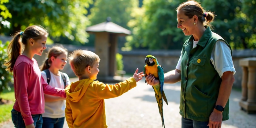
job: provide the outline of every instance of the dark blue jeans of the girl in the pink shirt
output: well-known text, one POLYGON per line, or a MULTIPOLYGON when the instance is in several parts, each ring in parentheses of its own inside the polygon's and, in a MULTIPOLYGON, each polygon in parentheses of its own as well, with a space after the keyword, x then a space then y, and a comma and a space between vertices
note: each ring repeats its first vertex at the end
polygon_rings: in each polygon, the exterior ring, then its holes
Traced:
MULTIPOLYGON (((25 122, 23 121, 21 113, 16 111, 15 109, 12 109, 11 113, 12 113, 12 122, 14 124, 14 127, 26 128, 25 122)), ((36 114, 31 116, 34 120, 35 128, 42 128, 42 124, 43 124, 42 114, 36 114)))

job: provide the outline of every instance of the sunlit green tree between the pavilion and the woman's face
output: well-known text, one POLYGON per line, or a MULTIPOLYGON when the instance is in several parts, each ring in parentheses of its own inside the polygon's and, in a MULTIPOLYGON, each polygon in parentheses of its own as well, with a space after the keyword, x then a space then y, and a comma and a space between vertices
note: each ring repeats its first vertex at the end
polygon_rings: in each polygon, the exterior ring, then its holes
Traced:
MULTIPOLYGON (((149 49, 181 49, 185 37, 177 29, 175 9, 183 0, 144 0, 142 8, 134 8, 128 26, 133 28, 127 37, 130 46, 149 49)), ((126 44, 128 45, 128 44, 126 44)))

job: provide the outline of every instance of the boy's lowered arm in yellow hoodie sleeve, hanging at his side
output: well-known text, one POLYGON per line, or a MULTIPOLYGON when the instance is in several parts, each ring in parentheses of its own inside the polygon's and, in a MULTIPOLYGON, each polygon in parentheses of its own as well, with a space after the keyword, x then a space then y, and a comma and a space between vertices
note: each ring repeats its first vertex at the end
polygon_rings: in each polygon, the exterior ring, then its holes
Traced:
POLYGON ((73 124, 74 124, 74 120, 73 120, 73 117, 72 117, 72 110, 71 110, 71 107, 69 105, 69 99, 67 98, 66 99, 66 108, 65 108, 65 118, 66 118, 66 121, 68 123, 68 127, 69 128, 73 128, 73 124))

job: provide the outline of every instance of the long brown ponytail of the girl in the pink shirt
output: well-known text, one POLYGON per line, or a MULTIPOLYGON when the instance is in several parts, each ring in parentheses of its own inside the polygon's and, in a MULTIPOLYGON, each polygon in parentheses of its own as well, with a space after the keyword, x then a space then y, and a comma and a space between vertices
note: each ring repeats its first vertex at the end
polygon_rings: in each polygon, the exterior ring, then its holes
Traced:
POLYGON ((16 33, 8 46, 7 54, 10 60, 4 64, 7 67, 7 71, 13 71, 14 64, 18 56, 21 54, 22 48, 20 36, 22 33, 23 32, 16 33))

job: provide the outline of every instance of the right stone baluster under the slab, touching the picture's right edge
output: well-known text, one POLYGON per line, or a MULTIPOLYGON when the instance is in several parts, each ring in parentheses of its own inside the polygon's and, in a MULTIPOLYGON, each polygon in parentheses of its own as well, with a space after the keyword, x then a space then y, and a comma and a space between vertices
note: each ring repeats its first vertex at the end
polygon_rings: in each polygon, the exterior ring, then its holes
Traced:
POLYGON ((255 72, 256 72, 256 67, 249 67, 248 68, 249 72, 249 79, 248 79, 248 99, 247 102, 249 103, 255 103, 255 86, 256 86, 256 77, 255 77, 255 72))

